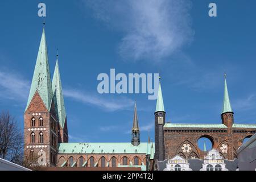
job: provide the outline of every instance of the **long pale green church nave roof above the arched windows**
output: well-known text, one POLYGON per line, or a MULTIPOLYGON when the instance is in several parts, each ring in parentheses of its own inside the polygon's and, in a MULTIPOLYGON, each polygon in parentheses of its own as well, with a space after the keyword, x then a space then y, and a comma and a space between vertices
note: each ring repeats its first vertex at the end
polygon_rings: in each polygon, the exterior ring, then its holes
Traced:
MULTIPOLYGON (((155 143, 152 143, 155 145, 155 143)), ((60 143, 59 154, 146 154, 147 142, 131 143, 60 143)))

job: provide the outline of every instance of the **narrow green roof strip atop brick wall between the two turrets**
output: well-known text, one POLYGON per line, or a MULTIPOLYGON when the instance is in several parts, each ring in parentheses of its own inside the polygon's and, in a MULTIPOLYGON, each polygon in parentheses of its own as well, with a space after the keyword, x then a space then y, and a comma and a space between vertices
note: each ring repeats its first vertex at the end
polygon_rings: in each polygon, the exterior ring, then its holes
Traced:
POLYGON ((181 127, 181 128, 227 128, 224 124, 188 124, 188 123, 166 123, 164 127, 181 127))

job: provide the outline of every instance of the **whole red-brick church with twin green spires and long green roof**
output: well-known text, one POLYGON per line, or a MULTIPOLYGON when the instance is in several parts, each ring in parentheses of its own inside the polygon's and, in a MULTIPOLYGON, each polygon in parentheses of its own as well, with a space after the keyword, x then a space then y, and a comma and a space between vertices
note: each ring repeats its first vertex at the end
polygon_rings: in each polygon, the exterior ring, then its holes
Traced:
POLYGON ((147 142, 141 142, 140 134, 135 104, 131 142, 69 143, 58 55, 51 80, 43 28, 24 111, 24 158, 44 167, 152 169, 155 144, 149 137, 147 142))

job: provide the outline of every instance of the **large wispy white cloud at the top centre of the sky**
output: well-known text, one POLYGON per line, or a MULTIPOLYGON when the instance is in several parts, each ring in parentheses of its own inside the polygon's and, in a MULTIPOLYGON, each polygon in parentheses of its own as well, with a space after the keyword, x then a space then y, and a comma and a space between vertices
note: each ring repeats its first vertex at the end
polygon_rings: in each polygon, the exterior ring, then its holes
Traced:
POLYGON ((160 61, 193 37, 189 0, 85 0, 96 18, 123 32, 120 55, 127 60, 160 61))

